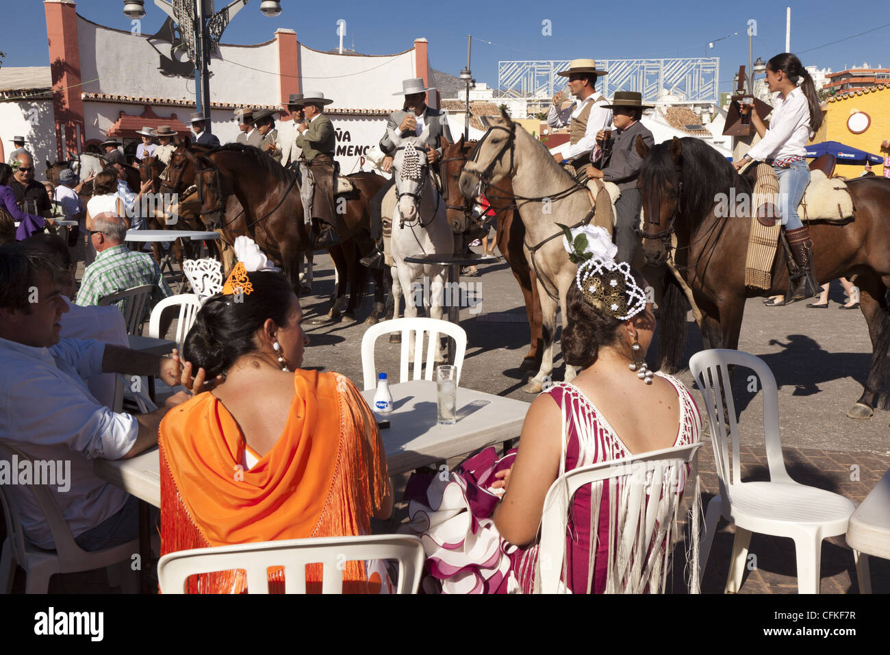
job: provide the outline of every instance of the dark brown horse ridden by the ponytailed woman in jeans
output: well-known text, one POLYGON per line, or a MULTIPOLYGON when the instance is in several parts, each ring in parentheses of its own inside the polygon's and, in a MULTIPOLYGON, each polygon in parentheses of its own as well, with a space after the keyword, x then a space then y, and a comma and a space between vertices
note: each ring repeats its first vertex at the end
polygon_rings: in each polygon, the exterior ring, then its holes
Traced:
MULTIPOLYGON (((862 397, 847 412, 850 418, 869 418, 878 402, 882 381, 890 373, 890 180, 859 177, 847 181, 855 208, 854 220, 843 226, 813 223, 815 275, 819 282, 857 275, 860 307, 869 326, 872 354, 862 397)), ((643 250, 650 263, 659 264, 671 254, 676 237, 676 268, 692 288, 702 319, 700 328, 707 348, 737 348, 745 299, 784 293, 788 288, 785 259, 776 258, 772 288, 745 286, 745 258, 750 218, 718 217, 718 194, 743 197, 750 193, 748 178, 736 174, 717 151, 698 139, 686 137, 659 143, 643 162, 639 178, 646 223, 643 250)), ((683 299, 679 299, 681 302, 683 299)), ((667 302, 667 300, 666 300, 667 302)), ((670 312, 675 320, 659 324, 659 340, 682 342, 685 312, 670 312)), ((668 364, 676 367, 682 348, 668 364)), ((890 403, 884 397, 884 408, 890 403)))

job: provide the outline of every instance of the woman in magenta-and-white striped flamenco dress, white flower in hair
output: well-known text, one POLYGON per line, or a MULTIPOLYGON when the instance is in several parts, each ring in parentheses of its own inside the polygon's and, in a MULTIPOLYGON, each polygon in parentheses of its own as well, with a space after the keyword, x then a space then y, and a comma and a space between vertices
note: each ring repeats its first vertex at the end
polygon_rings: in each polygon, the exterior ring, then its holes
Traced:
MULTIPOLYGON (((557 477, 699 440, 700 415, 689 391, 670 376, 653 375, 642 361, 655 330, 643 278, 614 261, 615 246, 602 228, 579 228, 563 245, 580 265, 566 303, 562 353, 582 370, 530 405, 518 451, 498 460, 490 447, 448 475, 409 480, 410 523, 403 530, 424 542, 427 592, 532 592, 542 566, 538 526, 557 477), (582 232, 586 244, 577 239, 582 232)), ((609 536, 609 489, 592 488, 581 487, 572 501, 565 560, 543 565, 562 566, 564 589, 575 594, 663 590, 664 566, 630 581, 627 561, 617 561, 614 548, 609 553, 616 540, 609 536)))

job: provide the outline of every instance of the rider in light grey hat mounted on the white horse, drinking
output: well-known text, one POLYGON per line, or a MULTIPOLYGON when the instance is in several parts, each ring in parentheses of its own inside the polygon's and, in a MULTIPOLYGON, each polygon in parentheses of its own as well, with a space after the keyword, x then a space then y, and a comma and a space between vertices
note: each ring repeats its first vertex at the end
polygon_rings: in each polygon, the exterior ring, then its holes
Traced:
MULTIPOLYGON (((405 102, 401 111, 393 111, 386 121, 386 132, 380 140, 380 150, 384 152, 384 159, 380 162, 380 169, 384 173, 392 170, 392 159, 395 155, 395 145, 389 137, 389 130, 398 135, 426 135, 426 159, 431 166, 441 160, 442 149, 440 137, 444 136, 449 141, 451 129, 448 125, 448 116, 444 111, 433 109, 426 104, 426 92, 435 91, 435 87, 427 87, 423 78, 409 78, 402 80, 401 92, 393 95, 404 95, 405 102)), ((433 176, 435 179, 435 176, 433 176)), ((382 206, 387 195, 395 195, 395 179, 389 184, 384 184, 380 191, 376 192, 371 201, 371 237, 376 239, 376 247, 368 257, 361 258, 361 263, 372 268, 384 267, 384 249, 382 238, 382 206)), ((388 219, 388 217, 387 217, 388 219)))

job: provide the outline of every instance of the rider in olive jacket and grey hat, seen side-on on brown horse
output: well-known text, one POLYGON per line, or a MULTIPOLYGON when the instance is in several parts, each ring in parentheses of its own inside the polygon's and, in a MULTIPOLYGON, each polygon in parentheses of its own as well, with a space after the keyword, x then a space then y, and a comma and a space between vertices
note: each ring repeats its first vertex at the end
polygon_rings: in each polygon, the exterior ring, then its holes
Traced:
POLYGON ((323 113, 325 105, 331 102, 334 101, 320 91, 305 92, 300 104, 306 122, 296 126, 300 135, 295 143, 303 150, 306 162, 303 207, 310 208, 307 212, 312 217, 309 242, 316 249, 336 245, 341 240, 339 234, 344 233, 343 217, 334 210, 336 132, 331 119, 323 113))

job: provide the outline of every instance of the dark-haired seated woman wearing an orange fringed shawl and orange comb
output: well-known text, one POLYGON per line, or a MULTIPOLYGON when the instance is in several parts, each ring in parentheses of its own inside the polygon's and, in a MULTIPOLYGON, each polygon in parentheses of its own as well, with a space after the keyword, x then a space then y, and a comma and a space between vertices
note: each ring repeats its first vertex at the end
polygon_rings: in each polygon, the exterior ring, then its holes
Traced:
MULTIPOLYGON (((358 389, 338 373, 299 370, 302 318, 284 277, 242 264, 198 312, 184 359, 225 382, 161 423, 162 553, 370 534, 370 518, 392 512, 380 432, 358 389)), ((344 591, 373 593, 377 577, 348 562, 344 591)), ((281 569, 269 580, 283 591, 281 569)), ((320 565, 310 567, 307 590, 320 581, 320 565)), ((190 579, 197 593, 245 585, 235 571, 190 579)))

